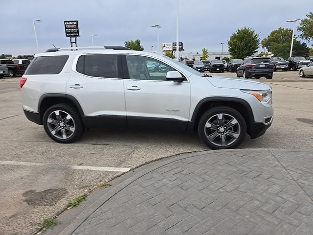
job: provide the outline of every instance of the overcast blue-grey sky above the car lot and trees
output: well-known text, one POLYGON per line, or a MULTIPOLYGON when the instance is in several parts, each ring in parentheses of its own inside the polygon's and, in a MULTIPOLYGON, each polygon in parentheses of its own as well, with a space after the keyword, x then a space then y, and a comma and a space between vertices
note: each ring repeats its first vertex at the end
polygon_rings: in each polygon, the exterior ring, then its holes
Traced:
MULTIPOLYGON (((221 43, 238 28, 248 26, 260 39, 278 27, 292 28, 286 20, 303 19, 312 10, 312 0, 179 0, 179 41, 184 55, 220 52, 221 43)), ((65 20, 78 20, 78 46, 124 46, 126 40, 140 39, 146 51, 156 50, 156 28, 160 24, 159 42, 176 42, 176 0, 2 0, 0 1, 0 54, 34 54, 69 47, 65 37, 65 20)), ((299 23, 297 23, 298 25, 299 23)), ((296 34, 297 31, 296 31, 296 34)), ((307 42, 306 42, 307 43, 307 42)), ((309 44, 311 46, 312 42, 309 44)), ((261 48, 260 48, 261 50, 261 48)))

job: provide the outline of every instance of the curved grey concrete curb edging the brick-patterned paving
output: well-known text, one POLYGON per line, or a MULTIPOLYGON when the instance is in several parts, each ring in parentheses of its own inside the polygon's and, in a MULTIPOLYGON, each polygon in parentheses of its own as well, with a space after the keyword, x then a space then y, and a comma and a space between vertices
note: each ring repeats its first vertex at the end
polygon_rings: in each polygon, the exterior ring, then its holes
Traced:
MULTIPOLYGON (((89 216, 96 211, 99 207, 101 207, 103 204, 105 204, 110 198, 112 198, 116 193, 121 191, 122 189, 126 188, 128 185, 133 183, 135 180, 139 179, 140 177, 150 173, 151 171, 154 171, 164 165, 183 160, 186 158, 191 157, 198 157, 201 155, 207 155, 207 154, 217 154, 217 153, 228 153, 228 152, 242 152, 242 151, 260 151, 260 152, 270 152, 270 151, 281 151, 281 152, 312 152, 313 150, 301 150, 301 149, 276 149, 276 148, 246 148, 246 149, 227 149, 227 150, 207 150, 207 151, 201 151, 201 152, 194 152, 194 153, 187 153, 187 154, 181 154, 178 156, 169 157, 170 159, 161 159, 158 162, 152 162, 148 163, 148 168, 143 169, 139 171, 138 173, 135 173, 130 178, 124 180, 122 183, 116 185, 115 187, 111 188, 110 191, 96 199, 94 203, 92 203, 85 211, 83 211, 79 216, 77 216, 74 221, 67 226, 59 235, 71 235, 75 232, 77 228, 79 228, 88 218, 89 216), (149 166, 149 164, 151 164, 149 166)), ((142 166, 145 167, 145 166, 142 166)))

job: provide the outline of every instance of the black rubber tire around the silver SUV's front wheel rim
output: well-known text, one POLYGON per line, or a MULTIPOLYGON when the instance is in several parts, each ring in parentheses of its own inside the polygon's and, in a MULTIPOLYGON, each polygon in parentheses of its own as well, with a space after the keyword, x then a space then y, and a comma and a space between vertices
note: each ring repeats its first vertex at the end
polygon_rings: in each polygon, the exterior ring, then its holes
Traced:
MULTIPOLYGON (((212 124, 217 124, 214 122, 211 122, 212 124)), ((226 123, 223 123, 227 124, 226 123)), ((214 128, 214 127, 213 127, 214 128)), ((219 132, 221 133, 221 132, 219 132)), ((208 111, 206 111, 200 118, 199 122, 198 122, 198 135, 201 139, 201 141, 203 143, 205 143, 208 147, 210 147, 211 149, 230 149, 230 148, 236 148, 239 144, 242 143, 242 141, 244 141, 244 138, 246 136, 246 121, 243 118, 243 116, 235 109, 227 107, 227 106, 218 106, 218 107, 214 107, 212 109, 209 109, 208 111), (213 126, 211 126, 211 128, 209 127, 205 127, 206 123, 209 120, 214 120, 215 117, 217 117, 218 114, 223 114, 223 117, 228 118, 228 117, 232 117, 237 121, 237 124, 235 124, 234 126, 230 127, 230 128, 225 128, 224 127, 218 127, 220 128, 219 130, 223 129, 223 134, 218 134, 218 130, 215 131, 215 129, 212 129, 213 126), (232 130, 230 130, 232 129, 232 130), (238 135, 238 137, 234 140, 231 141, 232 137, 227 133, 237 133, 236 135, 238 135), (230 132, 231 131, 231 132, 230 132), (213 139, 212 141, 208 140, 207 136, 212 136, 212 135, 218 135, 217 137, 215 137, 215 139, 213 139), (226 138, 226 145, 222 145, 222 136, 224 135, 224 138, 226 138), (227 141, 229 142, 229 144, 227 143, 227 141), (217 142, 220 142, 220 145, 217 144, 217 142)))

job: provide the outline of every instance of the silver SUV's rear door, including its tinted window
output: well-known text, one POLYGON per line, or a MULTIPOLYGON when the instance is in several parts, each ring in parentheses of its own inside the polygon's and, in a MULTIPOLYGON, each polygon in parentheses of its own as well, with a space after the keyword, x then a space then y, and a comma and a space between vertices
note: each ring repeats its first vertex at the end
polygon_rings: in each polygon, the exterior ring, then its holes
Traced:
POLYGON ((78 55, 73 64, 66 91, 81 105, 84 122, 88 126, 126 127, 120 55, 78 55))

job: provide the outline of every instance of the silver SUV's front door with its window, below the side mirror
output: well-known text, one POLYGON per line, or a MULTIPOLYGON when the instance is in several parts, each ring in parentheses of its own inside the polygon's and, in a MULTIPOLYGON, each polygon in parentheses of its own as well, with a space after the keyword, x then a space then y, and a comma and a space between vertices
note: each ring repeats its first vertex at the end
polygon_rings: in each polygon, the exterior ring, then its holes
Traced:
POLYGON ((124 80, 127 125, 185 130, 190 110, 189 81, 167 81, 166 73, 175 69, 162 61, 140 55, 125 57, 129 75, 124 80), (152 70, 151 64, 157 68, 152 70))

